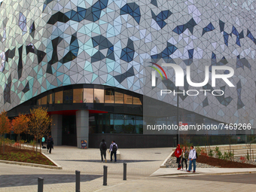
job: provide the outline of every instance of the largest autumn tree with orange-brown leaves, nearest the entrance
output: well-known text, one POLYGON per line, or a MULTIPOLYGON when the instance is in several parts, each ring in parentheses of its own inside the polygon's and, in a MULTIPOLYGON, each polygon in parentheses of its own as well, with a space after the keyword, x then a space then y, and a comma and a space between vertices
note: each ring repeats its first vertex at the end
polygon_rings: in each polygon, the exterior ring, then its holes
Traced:
POLYGON ((28 133, 35 137, 36 139, 36 153, 35 156, 37 157, 38 154, 38 139, 45 136, 47 133, 50 132, 49 126, 51 126, 53 120, 49 114, 47 114, 47 108, 42 108, 41 106, 37 108, 33 108, 30 110, 30 117, 29 117, 29 130, 28 133))

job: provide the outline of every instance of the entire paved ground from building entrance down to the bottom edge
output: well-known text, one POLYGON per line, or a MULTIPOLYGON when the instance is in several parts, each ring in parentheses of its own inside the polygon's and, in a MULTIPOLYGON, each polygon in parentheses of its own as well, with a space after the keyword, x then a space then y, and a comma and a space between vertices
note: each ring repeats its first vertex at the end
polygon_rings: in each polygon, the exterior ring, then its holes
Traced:
MULTIPOLYGON (((256 174, 254 173, 176 175, 183 173, 176 169, 159 169, 171 151, 171 148, 120 149, 121 160, 117 160, 117 163, 101 163, 99 149, 82 150, 56 146, 53 154, 47 155, 63 169, 43 169, 0 163, 0 191, 37 191, 39 176, 44 178, 44 191, 75 191, 76 169, 81 171, 81 191, 187 191, 191 190, 190 186, 200 191, 255 190, 256 174), (127 163, 127 181, 123 181, 123 162, 127 163), (103 165, 108 166, 108 186, 102 185, 103 165), (172 174, 169 174, 170 172, 172 174)), ((197 169, 197 172, 218 173, 220 170, 221 168, 202 168, 202 170, 197 169)), ((222 173, 233 172, 233 169, 222 170, 222 173)))

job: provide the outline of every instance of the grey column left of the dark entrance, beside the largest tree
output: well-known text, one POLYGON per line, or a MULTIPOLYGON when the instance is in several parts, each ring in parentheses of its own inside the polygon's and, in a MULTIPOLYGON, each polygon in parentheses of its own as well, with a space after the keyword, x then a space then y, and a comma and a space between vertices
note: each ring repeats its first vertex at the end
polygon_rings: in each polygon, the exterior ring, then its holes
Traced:
POLYGON ((51 117, 53 117, 51 136, 53 137, 54 145, 62 145, 62 115, 53 114, 51 117))

